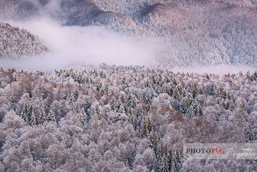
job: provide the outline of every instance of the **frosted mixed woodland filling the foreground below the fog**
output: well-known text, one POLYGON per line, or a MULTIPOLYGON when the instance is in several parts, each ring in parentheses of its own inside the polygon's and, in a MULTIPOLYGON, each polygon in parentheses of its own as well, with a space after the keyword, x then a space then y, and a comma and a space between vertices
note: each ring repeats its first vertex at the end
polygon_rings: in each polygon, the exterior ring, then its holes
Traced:
POLYGON ((256 143, 257 72, 0 67, 0 171, 257 171, 183 143, 256 143))

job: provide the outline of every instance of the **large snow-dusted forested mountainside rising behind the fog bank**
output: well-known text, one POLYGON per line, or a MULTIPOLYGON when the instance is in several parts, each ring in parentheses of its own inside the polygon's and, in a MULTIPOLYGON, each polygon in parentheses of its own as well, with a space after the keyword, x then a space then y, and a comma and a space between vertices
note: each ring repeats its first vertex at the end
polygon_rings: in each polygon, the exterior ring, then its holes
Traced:
POLYGON ((96 25, 158 38, 156 63, 170 66, 256 66, 257 1, 5 1, 5 20, 47 16, 66 26, 96 25))

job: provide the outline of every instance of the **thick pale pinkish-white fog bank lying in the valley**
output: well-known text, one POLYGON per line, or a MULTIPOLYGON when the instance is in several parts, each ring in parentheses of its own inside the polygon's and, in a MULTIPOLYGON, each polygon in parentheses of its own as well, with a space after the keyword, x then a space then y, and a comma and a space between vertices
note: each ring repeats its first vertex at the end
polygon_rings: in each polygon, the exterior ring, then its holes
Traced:
POLYGON ((157 46, 154 41, 139 40, 96 26, 61 26, 49 19, 26 22, 4 21, 38 35, 54 53, 19 61, 6 60, 4 67, 51 70, 79 63, 116 65, 152 65, 157 46))

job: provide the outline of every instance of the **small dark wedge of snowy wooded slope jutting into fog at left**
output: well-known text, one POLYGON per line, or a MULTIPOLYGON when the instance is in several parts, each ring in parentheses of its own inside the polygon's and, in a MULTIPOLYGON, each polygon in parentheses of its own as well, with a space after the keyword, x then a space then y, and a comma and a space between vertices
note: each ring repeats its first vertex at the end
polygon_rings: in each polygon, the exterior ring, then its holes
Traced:
POLYGON ((19 27, 0 22, 0 59, 17 59, 51 50, 38 37, 19 27))

